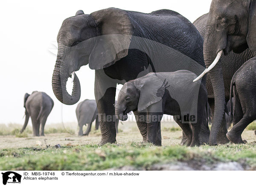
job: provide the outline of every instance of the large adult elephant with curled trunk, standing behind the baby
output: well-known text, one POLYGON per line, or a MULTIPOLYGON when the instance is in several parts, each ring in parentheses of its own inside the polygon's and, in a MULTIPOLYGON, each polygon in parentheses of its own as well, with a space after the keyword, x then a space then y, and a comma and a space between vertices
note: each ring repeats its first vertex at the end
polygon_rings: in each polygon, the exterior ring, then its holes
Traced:
MULTIPOLYGON (((81 94, 75 71, 87 64, 95 70, 102 144, 116 142, 115 122, 104 115, 114 116, 117 83, 150 72, 189 70, 199 75, 205 69, 200 33, 185 17, 166 9, 145 14, 109 8, 90 15, 79 10, 64 20, 57 41, 53 92, 60 102, 75 104, 81 94), (68 77, 74 79, 72 95, 66 90, 68 77)), ((138 115, 137 110, 134 114, 138 115)), ((137 125, 146 141, 146 122, 137 125)))

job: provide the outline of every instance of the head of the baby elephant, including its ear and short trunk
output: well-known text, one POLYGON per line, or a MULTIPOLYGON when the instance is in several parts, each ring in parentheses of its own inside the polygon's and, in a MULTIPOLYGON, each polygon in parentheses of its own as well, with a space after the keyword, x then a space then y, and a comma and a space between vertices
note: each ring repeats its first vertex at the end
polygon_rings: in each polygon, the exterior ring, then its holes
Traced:
POLYGON ((119 92, 116 104, 116 117, 125 121, 130 111, 139 112, 160 102, 165 92, 163 81, 154 73, 128 81, 119 92))

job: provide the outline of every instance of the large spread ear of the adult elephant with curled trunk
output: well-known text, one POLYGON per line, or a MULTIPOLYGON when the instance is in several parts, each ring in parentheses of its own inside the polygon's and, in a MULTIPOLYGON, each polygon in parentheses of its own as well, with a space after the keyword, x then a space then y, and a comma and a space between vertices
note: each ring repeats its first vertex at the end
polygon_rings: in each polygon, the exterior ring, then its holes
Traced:
POLYGON ((89 67, 103 69, 128 55, 134 26, 128 12, 109 8, 91 13, 98 24, 100 36, 89 57, 89 67))

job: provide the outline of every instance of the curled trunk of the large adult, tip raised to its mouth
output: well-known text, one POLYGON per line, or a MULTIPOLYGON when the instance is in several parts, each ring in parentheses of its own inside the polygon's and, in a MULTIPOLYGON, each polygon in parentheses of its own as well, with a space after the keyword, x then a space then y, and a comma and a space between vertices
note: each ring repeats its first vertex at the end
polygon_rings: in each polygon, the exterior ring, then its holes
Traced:
POLYGON ((69 66, 67 61, 62 61, 61 56, 57 56, 55 68, 52 74, 52 90, 56 98, 65 105, 74 105, 81 96, 80 82, 76 74, 74 74, 72 95, 67 92, 67 79, 70 77, 69 66))

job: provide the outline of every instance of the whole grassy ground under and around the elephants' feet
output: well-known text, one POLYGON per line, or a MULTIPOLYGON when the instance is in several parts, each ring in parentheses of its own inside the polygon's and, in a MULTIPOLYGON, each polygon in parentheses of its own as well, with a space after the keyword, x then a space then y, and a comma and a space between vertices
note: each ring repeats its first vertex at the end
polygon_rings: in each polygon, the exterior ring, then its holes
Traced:
MULTIPOLYGON (((254 124, 253 124, 254 125, 254 124)), ((212 166, 219 162, 238 162, 247 169, 256 169, 256 136, 246 129, 245 145, 218 145, 188 148, 179 145, 182 132, 175 123, 162 124, 162 147, 141 144, 136 123, 119 125, 117 144, 99 146, 100 132, 92 128, 89 136, 78 137, 76 124, 46 125, 45 137, 32 137, 31 128, 22 136, 15 132, 21 125, 12 124, 0 130, 0 170, 105 170, 131 166, 151 170, 156 164, 185 162, 197 166, 212 166), (57 128, 62 133, 54 133, 57 128), (3 130, 5 129, 5 130, 3 130), (64 133, 65 132, 65 133, 64 133), (61 148, 55 148, 60 144, 61 148), (49 145, 49 147, 48 147, 49 145)))

